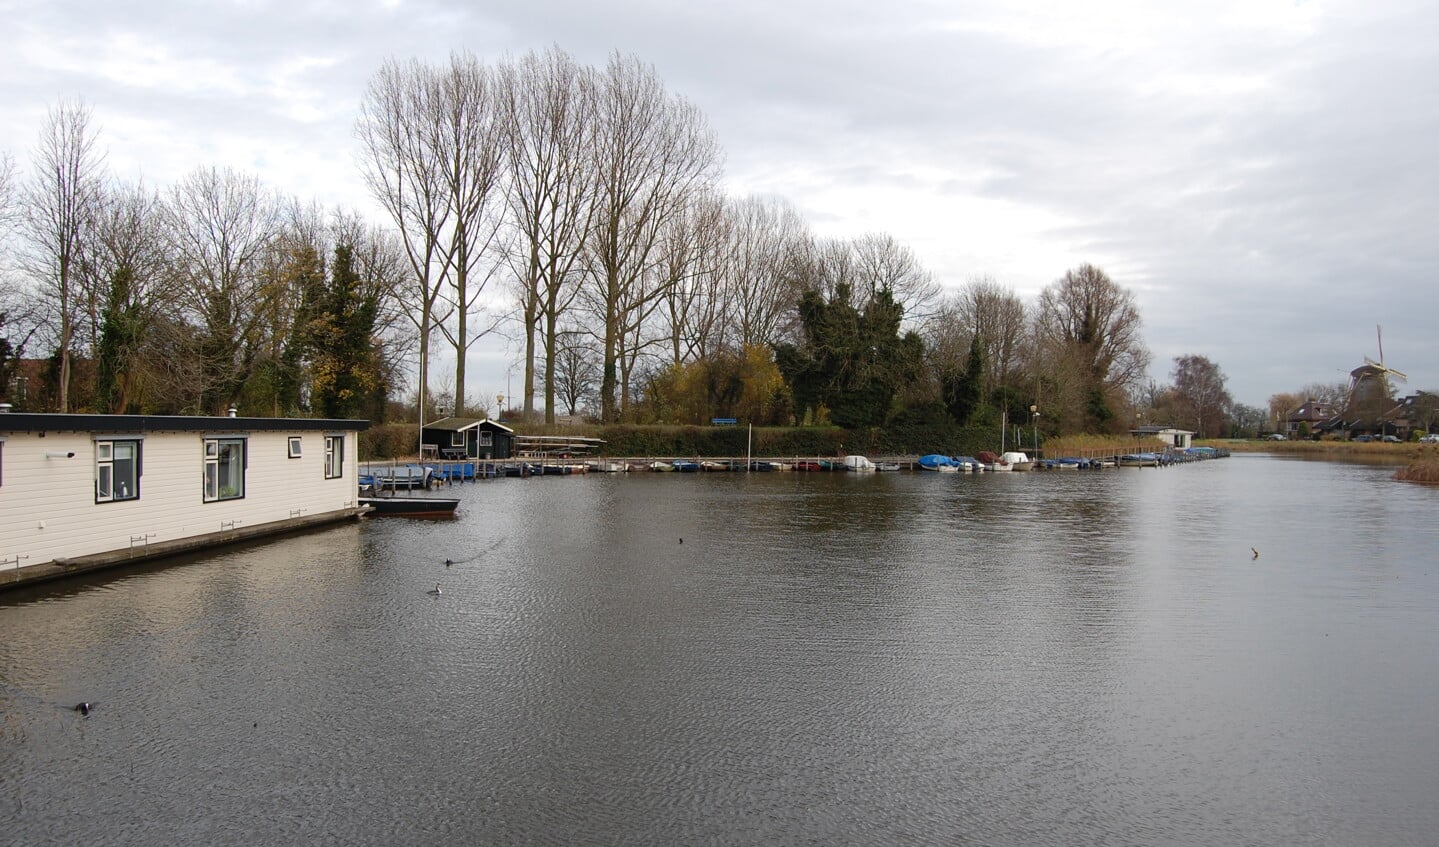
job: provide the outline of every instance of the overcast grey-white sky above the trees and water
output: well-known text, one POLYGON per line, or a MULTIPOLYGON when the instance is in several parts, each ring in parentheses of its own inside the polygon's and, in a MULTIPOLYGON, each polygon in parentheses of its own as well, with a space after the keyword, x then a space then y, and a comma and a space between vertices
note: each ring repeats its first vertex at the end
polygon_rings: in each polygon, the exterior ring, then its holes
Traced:
MULTIPOLYGON (((1404 0, 0 0, 0 151, 83 98, 117 175, 232 167, 381 220, 354 121, 389 58, 558 46, 652 65, 731 196, 888 233, 1025 301, 1081 263, 1134 292, 1151 377, 1236 401, 1364 357, 1439 390, 1439 4, 1404 0)), ((478 397, 518 390, 502 338, 478 397)), ((432 371, 432 374, 439 375, 432 371)))

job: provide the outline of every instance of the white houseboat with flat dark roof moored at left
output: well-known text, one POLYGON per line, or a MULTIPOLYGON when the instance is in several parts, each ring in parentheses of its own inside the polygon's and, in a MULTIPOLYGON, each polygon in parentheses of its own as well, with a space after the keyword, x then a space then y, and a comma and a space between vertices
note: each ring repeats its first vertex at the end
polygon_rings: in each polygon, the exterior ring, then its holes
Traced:
POLYGON ((0 406, 0 588, 361 515, 368 426, 0 406))

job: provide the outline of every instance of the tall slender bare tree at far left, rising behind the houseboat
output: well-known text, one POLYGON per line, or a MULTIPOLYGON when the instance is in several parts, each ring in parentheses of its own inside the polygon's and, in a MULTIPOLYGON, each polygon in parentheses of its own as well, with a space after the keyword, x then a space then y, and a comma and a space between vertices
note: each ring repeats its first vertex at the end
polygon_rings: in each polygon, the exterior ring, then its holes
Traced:
POLYGON ((102 184, 91 108, 81 101, 50 108, 35 148, 35 173, 23 190, 29 269, 52 299, 60 354, 59 411, 69 411, 71 357, 83 305, 81 255, 102 184))

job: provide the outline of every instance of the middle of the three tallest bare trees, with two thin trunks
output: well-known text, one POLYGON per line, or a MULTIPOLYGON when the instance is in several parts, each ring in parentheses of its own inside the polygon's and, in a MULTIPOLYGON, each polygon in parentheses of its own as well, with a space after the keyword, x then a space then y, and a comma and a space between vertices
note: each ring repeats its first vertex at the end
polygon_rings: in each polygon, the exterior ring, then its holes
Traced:
POLYGON ((528 53, 502 69, 509 131, 512 269, 524 322, 524 413, 534 413, 544 349, 545 421, 554 423, 558 324, 578 293, 591 201, 594 79, 566 52, 528 53))

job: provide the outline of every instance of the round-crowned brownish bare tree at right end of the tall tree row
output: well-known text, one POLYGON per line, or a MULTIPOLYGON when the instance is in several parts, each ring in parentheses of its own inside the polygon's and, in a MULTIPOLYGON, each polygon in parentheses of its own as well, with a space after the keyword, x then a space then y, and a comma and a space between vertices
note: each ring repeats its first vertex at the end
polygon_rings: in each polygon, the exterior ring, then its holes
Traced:
POLYGON ((1144 378, 1134 295, 1092 265, 1065 272, 1039 295, 1036 336, 1045 371, 1068 374, 1059 410, 1085 429, 1115 426, 1115 406, 1144 378))

